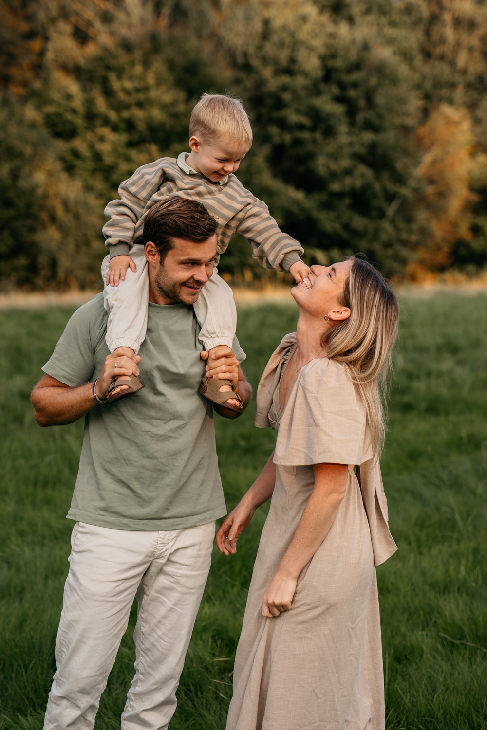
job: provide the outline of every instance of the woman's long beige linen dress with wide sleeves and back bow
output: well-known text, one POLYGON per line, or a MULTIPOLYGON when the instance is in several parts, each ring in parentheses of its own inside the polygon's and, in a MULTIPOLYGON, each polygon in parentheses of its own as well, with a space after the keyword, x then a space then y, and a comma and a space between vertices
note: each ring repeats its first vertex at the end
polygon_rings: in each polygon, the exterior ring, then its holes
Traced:
POLYGON ((256 426, 277 431, 276 483, 248 595, 226 730, 380 730, 383 666, 375 565, 396 545, 365 415, 347 369, 328 358, 299 372, 280 412, 284 337, 257 391, 256 426), (299 576, 291 611, 261 615, 264 593, 313 488, 312 464, 349 464, 345 499, 299 576), (361 465, 361 488, 353 465, 361 465))

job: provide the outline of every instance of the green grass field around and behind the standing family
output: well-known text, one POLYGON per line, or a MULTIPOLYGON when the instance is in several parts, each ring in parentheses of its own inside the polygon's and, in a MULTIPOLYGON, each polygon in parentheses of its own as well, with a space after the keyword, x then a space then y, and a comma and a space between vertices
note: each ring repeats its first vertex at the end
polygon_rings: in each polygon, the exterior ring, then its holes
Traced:
MULTIPOLYGON (((68 570, 65 515, 82 423, 39 429, 29 403, 71 312, 0 312, 0 728, 42 728, 68 570)), ((256 385, 296 309, 242 307, 244 366, 256 385)), ((388 730, 487 730, 487 297, 402 302, 383 453, 398 552, 377 570, 388 730)), ((216 417, 229 509, 272 450, 253 408, 216 417)), ((223 730, 234 651, 264 510, 236 558, 215 550, 172 730, 223 730)), ((96 727, 120 728, 133 674, 135 611, 96 727)))

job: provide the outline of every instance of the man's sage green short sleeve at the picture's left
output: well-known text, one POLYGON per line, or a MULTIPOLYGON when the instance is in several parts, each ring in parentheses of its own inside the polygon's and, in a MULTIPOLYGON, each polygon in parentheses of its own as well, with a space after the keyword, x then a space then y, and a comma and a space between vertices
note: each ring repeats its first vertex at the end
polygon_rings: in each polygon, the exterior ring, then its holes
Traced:
POLYGON ((89 383, 95 369, 95 348, 104 337, 105 325, 103 304, 96 296, 74 312, 42 370, 70 388, 89 383))

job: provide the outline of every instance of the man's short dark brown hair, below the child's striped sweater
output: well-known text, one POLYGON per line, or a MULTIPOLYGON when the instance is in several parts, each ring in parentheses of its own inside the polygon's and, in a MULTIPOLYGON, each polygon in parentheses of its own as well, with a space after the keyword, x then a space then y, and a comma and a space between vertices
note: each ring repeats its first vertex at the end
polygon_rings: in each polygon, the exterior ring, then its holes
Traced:
POLYGON ((152 241, 161 264, 173 247, 173 239, 203 243, 216 231, 217 222, 202 203, 175 197, 156 203, 145 216, 142 242, 152 241))

